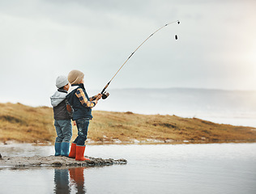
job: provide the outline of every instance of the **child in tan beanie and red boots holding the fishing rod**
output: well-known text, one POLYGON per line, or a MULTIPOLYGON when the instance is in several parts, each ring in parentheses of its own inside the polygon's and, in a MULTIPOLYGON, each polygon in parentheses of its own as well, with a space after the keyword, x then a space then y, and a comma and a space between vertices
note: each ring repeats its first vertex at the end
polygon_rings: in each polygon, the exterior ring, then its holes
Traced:
POLYGON ((98 94, 89 98, 83 86, 83 78, 84 74, 81 71, 71 70, 68 74, 68 81, 71 86, 68 95, 66 95, 66 99, 74 110, 73 120, 75 120, 78 129, 78 137, 72 142, 69 157, 79 161, 89 160, 83 156, 87 130, 89 122, 92 120, 92 108, 102 97, 101 94, 98 94))

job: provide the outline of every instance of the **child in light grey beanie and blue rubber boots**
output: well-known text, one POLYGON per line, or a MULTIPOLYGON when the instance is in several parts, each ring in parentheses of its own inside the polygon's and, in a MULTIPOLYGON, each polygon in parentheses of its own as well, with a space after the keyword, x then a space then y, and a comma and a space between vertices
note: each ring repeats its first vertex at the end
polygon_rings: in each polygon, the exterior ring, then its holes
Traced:
POLYGON ((60 75, 56 79, 55 85, 58 87, 58 91, 50 97, 53 105, 54 126, 57 133, 54 144, 55 156, 68 156, 72 137, 72 108, 66 100, 66 95, 70 84, 66 76, 60 75))

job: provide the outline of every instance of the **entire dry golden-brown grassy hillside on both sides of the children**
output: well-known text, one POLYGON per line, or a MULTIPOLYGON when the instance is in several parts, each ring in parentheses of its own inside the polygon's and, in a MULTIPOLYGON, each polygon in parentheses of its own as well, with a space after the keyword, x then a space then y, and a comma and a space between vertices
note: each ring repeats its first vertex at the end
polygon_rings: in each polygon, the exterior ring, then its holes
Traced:
MULTIPOLYGON (((139 115, 132 112, 93 112, 88 143, 256 141, 256 129, 215 124, 196 118, 139 115)), ((54 142, 53 110, 20 103, 0 103, 0 141, 54 142)), ((77 129, 73 127, 73 137, 77 129)))

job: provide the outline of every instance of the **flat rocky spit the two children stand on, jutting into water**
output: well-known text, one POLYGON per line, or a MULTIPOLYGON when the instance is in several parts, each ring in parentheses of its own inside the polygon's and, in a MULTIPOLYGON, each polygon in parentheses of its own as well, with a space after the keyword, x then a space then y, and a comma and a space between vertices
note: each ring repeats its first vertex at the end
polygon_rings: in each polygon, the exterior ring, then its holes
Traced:
POLYGON ((0 154, 0 168, 5 167, 104 167, 126 164, 126 159, 87 157, 90 160, 76 161, 62 156, 7 157, 0 154))

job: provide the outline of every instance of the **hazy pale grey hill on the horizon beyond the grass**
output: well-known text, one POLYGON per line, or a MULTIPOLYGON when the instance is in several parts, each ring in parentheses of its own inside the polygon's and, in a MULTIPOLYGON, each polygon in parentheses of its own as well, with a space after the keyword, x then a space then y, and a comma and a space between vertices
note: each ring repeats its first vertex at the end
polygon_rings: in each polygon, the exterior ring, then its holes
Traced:
MULTIPOLYGON (((88 91, 96 93, 96 91, 88 91)), ((115 89, 97 107, 109 111, 150 114, 217 114, 256 116, 256 91, 222 91, 191 88, 115 89)))

